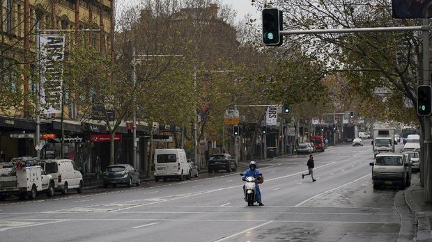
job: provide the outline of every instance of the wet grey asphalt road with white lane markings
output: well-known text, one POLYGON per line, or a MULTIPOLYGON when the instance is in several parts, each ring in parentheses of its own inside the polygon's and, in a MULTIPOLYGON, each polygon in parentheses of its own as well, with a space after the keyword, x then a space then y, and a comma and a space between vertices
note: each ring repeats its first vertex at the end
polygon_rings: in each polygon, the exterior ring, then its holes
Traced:
POLYGON ((238 172, 0 202, 0 241, 398 239, 397 190, 373 190, 369 140, 330 147, 314 159, 314 183, 301 176, 307 155, 259 163, 264 207, 247 207, 238 172))

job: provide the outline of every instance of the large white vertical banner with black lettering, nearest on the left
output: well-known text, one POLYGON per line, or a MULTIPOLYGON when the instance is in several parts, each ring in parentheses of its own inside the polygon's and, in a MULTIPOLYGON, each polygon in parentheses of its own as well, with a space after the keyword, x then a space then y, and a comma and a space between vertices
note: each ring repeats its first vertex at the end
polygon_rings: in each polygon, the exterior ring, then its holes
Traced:
POLYGON ((39 40, 41 111, 61 113, 65 35, 43 34, 39 40))

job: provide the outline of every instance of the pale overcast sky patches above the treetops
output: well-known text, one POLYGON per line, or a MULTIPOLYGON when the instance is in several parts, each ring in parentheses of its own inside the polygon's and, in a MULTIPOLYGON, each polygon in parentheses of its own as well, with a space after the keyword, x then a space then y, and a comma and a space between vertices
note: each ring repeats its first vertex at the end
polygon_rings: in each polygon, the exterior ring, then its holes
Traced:
MULTIPOLYGON (((237 20, 243 19, 245 15, 250 14, 252 17, 258 18, 260 13, 252 6, 251 0, 221 0, 223 4, 231 6, 237 12, 237 20)), ((117 8, 124 6, 134 6, 139 0, 117 0, 117 8)))

